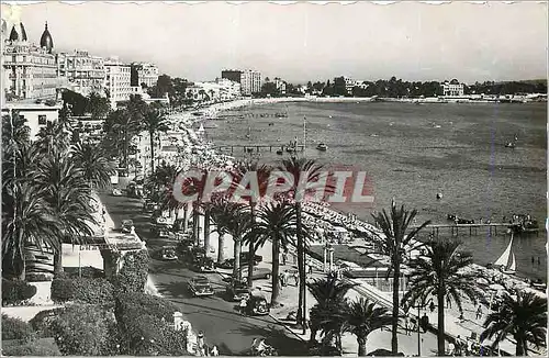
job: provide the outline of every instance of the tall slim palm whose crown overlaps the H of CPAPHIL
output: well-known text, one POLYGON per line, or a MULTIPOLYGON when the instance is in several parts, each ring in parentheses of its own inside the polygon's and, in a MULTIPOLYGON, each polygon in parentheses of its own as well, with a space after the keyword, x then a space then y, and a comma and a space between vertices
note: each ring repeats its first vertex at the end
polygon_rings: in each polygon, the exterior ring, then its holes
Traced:
MULTIPOLYGON (((322 175, 323 166, 315 160, 298 158, 292 156, 290 159, 282 160, 281 170, 285 170, 293 179, 292 199, 294 201, 296 215, 296 237, 298 237, 298 269, 300 273, 300 290, 299 290, 299 306, 298 306, 298 323, 303 323, 305 317, 305 238, 302 224, 302 201, 305 192, 299 187, 300 182, 316 182, 322 175)), ((303 325, 305 326, 305 325, 303 325)))

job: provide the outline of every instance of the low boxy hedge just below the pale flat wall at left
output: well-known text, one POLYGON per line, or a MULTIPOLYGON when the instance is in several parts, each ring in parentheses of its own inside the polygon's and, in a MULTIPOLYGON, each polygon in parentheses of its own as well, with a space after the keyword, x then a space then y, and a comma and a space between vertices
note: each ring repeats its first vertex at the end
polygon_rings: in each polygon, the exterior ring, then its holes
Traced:
POLYGON ((52 282, 54 302, 112 303, 114 287, 107 279, 68 278, 60 276, 52 282))

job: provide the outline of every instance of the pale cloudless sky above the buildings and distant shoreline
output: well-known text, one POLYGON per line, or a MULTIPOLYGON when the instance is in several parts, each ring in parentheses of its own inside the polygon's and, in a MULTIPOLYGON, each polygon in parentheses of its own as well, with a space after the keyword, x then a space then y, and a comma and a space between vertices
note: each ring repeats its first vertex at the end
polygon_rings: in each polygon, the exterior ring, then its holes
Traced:
POLYGON ((57 52, 152 61, 192 81, 247 68, 290 82, 547 78, 547 2, 175 2, 48 1, 13 13, 36 43, 47 21, 57 52))

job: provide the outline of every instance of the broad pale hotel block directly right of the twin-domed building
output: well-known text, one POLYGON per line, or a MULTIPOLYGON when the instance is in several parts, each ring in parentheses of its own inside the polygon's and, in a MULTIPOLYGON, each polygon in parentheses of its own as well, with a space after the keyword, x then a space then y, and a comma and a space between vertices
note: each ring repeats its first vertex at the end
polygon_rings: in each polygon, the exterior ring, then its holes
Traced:
POLYGON ((86 51, 57 55, 57 74, 67 78, 68 88, 85 97, 92 92, 104 96, 105 67, 102 57, 92 56, 86 51))

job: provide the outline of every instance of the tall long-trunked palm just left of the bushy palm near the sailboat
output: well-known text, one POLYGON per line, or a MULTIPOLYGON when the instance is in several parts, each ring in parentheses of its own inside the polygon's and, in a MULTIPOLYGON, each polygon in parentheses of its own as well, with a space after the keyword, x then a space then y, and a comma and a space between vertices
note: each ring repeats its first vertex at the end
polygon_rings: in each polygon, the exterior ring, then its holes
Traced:
POLYGON ((392 336, 391 336, 391 351, 393 355, 399 353, 399 291, 401 278, 401 265, 403 264, 406 249, 412 244, 412 240, 417 236, 421 230, 427 226, 430 221, 412 228, 410 233, 406 231, 417 211, 406 211, 404 205, 397 209, 393 200, 391 204, 391 215, 383 209, 382 213, 372 214, 376 224, 381 228, 381 233, 372 232, 373 239, 377 242, 380 254, 389 256, 391 266, 389 267, 388 275, 393 273, 393 322, 392 322, 392 336))

